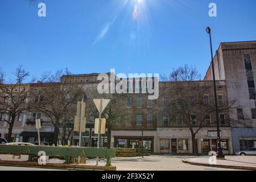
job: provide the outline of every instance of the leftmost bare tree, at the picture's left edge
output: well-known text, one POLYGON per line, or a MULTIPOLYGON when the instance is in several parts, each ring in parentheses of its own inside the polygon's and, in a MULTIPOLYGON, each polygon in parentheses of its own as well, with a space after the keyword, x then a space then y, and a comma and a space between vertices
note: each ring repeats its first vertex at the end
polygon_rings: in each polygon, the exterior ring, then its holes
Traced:
MULTIPOLYGON (((20 113, 24 113, 29 109, 27 103, 29 97, 30 84, 24 84, 29 73, 26 72, 22 66, 16 68, 14 73, 15 80, 10 81, 9 84, 5 84, 5 75, 1 71, 1 84, 0 84, 0 113, 5 115, 1 119, 9 124, 9 131, 7 140, 11 142, 11 134, 13 132, 13 126, 15 118, 20 113), (6 118, 9 117, 9 118, 6 118)), ((32 80, 30 83, 34 82, 32 80)))

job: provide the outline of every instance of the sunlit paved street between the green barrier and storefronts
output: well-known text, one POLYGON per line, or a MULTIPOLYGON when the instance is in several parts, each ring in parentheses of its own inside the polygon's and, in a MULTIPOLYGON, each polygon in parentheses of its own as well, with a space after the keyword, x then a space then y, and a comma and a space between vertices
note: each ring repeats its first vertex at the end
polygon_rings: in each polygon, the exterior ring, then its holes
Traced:
MULTIPOLYGON (((209 156, 172 156, 172 155, 151 155, 134 158, 114 158, 112 160, 113 166, 117 166, 117 171, 230 171, 236 169, 217 168, 194 166, 183 163, 183 159, 192 159, 193 161, 204 160, 207 161, 209 156)), ((256 165, 256 156, 226 156, 227 163, 247 163, 256 165)), ((96 159, 87 160, 88 164, 96 164, 96 159)), ((101 165, 106 164, 106 160, 102 159, 99 162, 101 165)), ((57 169, 44 168, 27 168, 27 167, 7 167, 0 166, 1 171, 52 171, 57 169)))

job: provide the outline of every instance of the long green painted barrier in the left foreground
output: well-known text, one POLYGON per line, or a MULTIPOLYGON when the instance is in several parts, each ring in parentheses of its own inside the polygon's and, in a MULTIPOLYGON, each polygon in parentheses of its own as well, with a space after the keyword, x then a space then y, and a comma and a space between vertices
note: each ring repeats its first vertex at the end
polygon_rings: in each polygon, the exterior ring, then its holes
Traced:
POLYGON ((115 148, 0 145, 0 154, 29 155, 29 161, 32 161, 32 156, 38 156, 40 151, 45 152, 46 156, 62 156, 68 164, 71 157, 105 157, 106 166, 111 166, 111 158, 115 157, 115 148))

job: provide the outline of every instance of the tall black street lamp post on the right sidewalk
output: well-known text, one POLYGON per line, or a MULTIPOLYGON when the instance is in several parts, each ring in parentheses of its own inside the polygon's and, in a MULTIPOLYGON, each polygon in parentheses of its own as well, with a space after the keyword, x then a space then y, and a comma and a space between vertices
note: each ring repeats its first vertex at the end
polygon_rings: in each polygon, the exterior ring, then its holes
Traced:
POLYGON ((222 152, 221 140, 220 140, 220 123, 219 123, 219 119, 218 119, 218 102, 217 102, 216 81, 215 81, 213 53, 212 53, 212 36, 210 35, 210 27, 207 27, 206 31, 210 36, 210 53, 212 55, 212 75, 213 75, 213 85, 214 85, 215 113, 216 113, 216 126, 217 126, 217 138, 218 138, 218 155, 217 155, 217 158, 221 159, 221 158, 225 158, 225 156, 222 152))

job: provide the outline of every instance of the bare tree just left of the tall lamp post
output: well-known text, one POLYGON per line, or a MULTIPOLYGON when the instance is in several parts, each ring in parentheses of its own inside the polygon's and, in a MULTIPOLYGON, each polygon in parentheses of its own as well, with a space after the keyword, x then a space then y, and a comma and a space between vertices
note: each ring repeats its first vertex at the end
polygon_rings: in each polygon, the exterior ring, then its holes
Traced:
MULTIPOLYGON (((196 68, 187 65, 174 69, 168 78, 163 77, 164 80, 171 81, 167 82, 166 85, 169 85, 164 88, 168 93, 164 97, 170 101, 167 110, 175 120, 179 116, 183 126, 188 127, 191 132, 193 154, 198 152, 196 134, 204 127, 216 126, 216 118, 211 119, 215 113, 214 100, 210 101, 210 98, 214 98, 213 84, 211 81, 195 81, 200 77, 196 68), (208 97, 205 98, 205 95, 208 97), (209 119, 210 123, 207 123, 209 119)), ((225 86, 218 85, 218 92, 225 93, 225 86)), ((230 105, 226 96, 219 109, 228 118, 230 105)))

